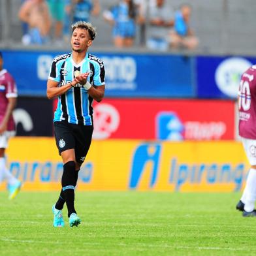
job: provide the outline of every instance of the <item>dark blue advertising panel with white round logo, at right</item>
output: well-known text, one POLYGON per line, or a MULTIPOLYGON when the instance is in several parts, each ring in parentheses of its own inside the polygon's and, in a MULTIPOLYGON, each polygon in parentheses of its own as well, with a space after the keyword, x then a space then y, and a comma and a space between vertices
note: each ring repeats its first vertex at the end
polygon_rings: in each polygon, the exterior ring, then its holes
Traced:
POLYGON ((197 97, 236 99, 240 77, 255 61, 251 57, 197 57, 197 97))

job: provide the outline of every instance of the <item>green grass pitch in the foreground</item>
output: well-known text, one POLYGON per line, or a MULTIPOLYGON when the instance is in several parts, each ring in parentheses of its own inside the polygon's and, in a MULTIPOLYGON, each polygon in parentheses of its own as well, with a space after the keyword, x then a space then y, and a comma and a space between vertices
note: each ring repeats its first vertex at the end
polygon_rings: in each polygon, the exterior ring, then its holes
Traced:
POLYGON ((240 193, 76 192, 79 227, 52 227, 57 192, 0 193, 0 255, 256 255, 240 193))

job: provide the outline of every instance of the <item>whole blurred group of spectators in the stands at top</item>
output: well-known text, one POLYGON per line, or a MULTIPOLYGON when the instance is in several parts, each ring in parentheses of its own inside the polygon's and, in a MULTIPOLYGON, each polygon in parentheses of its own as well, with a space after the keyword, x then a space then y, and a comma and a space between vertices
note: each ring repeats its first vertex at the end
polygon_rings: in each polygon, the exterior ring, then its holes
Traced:
MULTIPOLYGON (((71 24, 103 18, 112 27, 113 45, 130 48, 138 39, 152 50, 195 49, 199 39, 191 29, 190 5, 175 9, 167 0, 117 0, 101 10, 99 0, 23 0, 19 18, 24 44, 67 42, 71 24)), ((104 36, 104 35, 103 35, 104 36)))

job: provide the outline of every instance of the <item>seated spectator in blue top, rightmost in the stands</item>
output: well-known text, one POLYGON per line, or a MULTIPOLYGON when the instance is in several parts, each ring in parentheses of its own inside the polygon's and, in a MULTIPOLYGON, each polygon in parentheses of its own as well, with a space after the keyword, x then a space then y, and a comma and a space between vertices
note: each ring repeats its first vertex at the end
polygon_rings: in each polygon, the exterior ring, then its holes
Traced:
POLYGON ((170 32, 170 45, 172 48, 195 49, 199 40, 190 28, 191 7, 182 5, 175 13, 174 29, 170 32))

